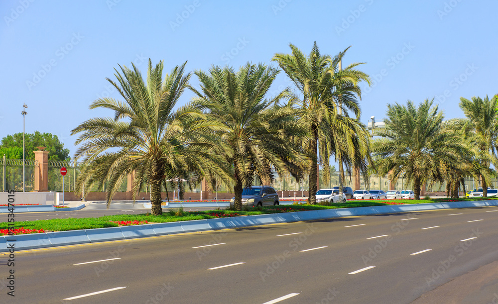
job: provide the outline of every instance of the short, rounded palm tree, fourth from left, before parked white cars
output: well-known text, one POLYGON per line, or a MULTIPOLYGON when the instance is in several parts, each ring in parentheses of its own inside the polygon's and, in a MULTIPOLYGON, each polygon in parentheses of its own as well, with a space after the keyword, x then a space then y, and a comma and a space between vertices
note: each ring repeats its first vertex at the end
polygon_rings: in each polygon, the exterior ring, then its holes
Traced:
POLYGON ((433 100, 418 108, 412 101, 406 106, 387 105, 385 129, 376 129, 372 145, 373 159, 380 174, 389 173, 391 182, 403 177, 413 182, 415 200, 428 180, 441 181, 450 168, 461 168, 459 155, 465 150, 459 136, 443 123, 444 115, 433 100))

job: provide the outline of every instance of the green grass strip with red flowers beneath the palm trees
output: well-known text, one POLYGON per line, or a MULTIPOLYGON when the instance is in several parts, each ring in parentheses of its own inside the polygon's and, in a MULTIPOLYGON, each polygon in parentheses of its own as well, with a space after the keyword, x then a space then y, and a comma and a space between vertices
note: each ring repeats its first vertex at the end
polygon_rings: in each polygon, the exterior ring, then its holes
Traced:
MULTIPOLYGON (((488 200, 493 200, 488 198, 488 200)), ((369 207, 369 206, 382 206, 392 204, 413 204, 413 203, 440 203, 440 202, 456 202, 456 201, 482 201, 478 199, 431 199, 431 200, 358 200, 347 201, 346 203, 337 203, 333 205, 308 205, 308 204, 293 204, 293 205, 280 205, 268 207, 255 207, 249 208, 249 211, 232 211, 232 210, 209 210, 209 211, 183 211, 181 209, 173 209, 172 212, 164 212, 162 215, 151 215, 149 212, 142 214, 117 214, 106 215, 101 217, 87 217, 87 218, 55 218, 47 220, 35 221, 18 221, 15 222, 15 228, 23 227, 24 229, 33 229, 33 232, 48 232, 48 231, 67 231, 78 229, 92 229, 92 228, 105 228, 105 227, 118 227, 118 222, 131 221, 128 224, 138 223, 163 223, 184 220, 206 219, 206 218, 220 218, 232 217, 243 215, 255 214, 271 214, 281 212, 305 211, 305 210, 320 210, 320 209, 335 209, 335 208, 353 208, 353 207, 369 207), (133 223, 133 221, 136 221, 133 223), (43 231, 39 231, 42 229, 43 231)), ((0 235, 6 234, 8 225, 7 222, 0 223, 0 235)), ((25 230, 20 233, 26 233, 25 230)))

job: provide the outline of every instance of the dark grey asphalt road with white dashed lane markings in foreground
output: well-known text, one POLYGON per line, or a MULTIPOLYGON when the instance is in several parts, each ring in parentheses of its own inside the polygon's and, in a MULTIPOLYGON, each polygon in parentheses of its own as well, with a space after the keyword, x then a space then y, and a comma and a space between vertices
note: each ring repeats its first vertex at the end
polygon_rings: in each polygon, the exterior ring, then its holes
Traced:
POLYGON ((15 270, 15 298, 3 279, 0 303, 411 303, 498 260, 497 211, 409 212, 19 251, 14 267, 0 255, 0 278, 15 270))

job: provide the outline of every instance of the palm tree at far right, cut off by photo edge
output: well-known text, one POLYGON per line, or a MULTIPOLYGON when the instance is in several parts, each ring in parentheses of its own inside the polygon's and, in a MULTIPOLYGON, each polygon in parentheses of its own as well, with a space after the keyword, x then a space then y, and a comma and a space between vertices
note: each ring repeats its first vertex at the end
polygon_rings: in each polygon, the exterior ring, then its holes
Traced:
MULTIPOLYGON (((497 96, 491 100, 486 96, 485 99, 473 97, 472 101, 460 98, 460 108, 464 111, 465 116, 472 122, 473 130, 476 135, 475 144, 479 150, 476 161, 479 167, 485 169, 491 168, 493 164, 497 168, 497 150, 498 150, 498 113, 497 113, 497 96)), ((487 178, 483 173, 480 174, 483 187, 483 197, 488 196, 487 178)))

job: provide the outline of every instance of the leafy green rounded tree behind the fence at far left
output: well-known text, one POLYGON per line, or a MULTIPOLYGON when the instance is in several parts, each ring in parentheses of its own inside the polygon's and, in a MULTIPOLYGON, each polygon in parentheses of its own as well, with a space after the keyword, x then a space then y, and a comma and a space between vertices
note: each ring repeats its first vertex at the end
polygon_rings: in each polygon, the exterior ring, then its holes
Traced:
MULTIPOLYGON (((38 150, 36 147, 47 147, 45 151, 49 151, 49 160, 71 160, 69 149, 64 149, 64 144, 60 142, 57 135, 52 135, 51 133, 40 133, 39 131, 35 131, 34 134, 25 133, 24 147, 25 159, 34 159, 33 151, 38 150)), ((10 157, 6 156, 7 158, 22 159, 22 132, 3 137, 0 149, 2 149, 0 150, 1 155, 7 153, 10 155, 10 157), (20 155, 18 153, 19 149, 20 155)))

